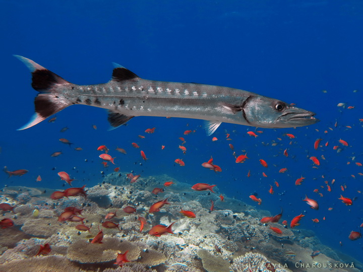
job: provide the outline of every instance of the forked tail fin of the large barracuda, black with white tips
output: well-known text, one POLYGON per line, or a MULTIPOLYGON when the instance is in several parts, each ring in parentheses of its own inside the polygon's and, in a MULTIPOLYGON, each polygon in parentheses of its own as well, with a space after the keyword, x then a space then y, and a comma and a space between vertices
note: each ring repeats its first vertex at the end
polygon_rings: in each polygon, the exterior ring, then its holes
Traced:
POLYGON ((14 56, 24 62, 29 68, 32 73, 32 87, 39 92, 34 100, 35 114, 27 124, 20 127, 18 130, 23 130, 36 125, 49 116, 71 105, 68 101, 61 99, 58 96, 56 88, 59 85, 69 85, 71 83, 29 58, 19 55, 14 56))

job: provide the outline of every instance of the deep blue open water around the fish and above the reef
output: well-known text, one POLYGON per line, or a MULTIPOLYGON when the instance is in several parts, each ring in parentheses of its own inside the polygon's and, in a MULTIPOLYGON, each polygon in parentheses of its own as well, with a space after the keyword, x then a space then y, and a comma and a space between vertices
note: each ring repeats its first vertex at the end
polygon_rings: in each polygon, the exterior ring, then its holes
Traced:
POLYGON ((166 173, 191 184, 217 184, 226 196, 250 205, 256 203, 249 195, 258 193, 263 199, 261 209, 275 215, 283 208, 283 219, 288 221, 303 212, 306 217, 298 228, 312 229, 324 244, 363 260, 363 240, 348 239, 350 231, 359 231, 363 223, 363 176, 358 174, 363 167, 355 165, 363 163, 363 122, 359 121, 363 118, 361 1, 0 4, 0 166, 29 170, 22 177, 10 179, 2 174, 1 186, 60 188, 63 182, 56 174, 58 171, 77 178, 75 186, 92 186, 102 181, 101 171, 113 171, 113 166, 104 169, 98 158, 97 147, 106 145, 116 157, 120 171, 133 170, 145 176, 166 173), (213 134, 218 141, 212 142, 201 120, 137 117, 127 126, 107 131, 104 110, 75 106, 56 114, 54 123, 46 120, 17 131, 33 114, 37 92, 30 86, 27 68, 13 54, 31 58, 76 84, 107 82, 114 61, 145 79, 228 86, 296 103, 316 112, 321 121, 296 129, 262 129, 257 139, 246 133, 253 127, 222 124, 213 134), (337 107, 338 103, 347 106, 337 107), (354 108, 347 109, 348 106, 354 108), (69 129, 59 132, 65 126, 69 129), (156 127, 155 133, 144 132, 152 127, 156 127), (196 132, 185 136, 183 132, 187 129, 196 132), (226 133, 230 133, 232 141, 226 141, 226 133), (291 140, 285 133, 293 133, 296 138, 291 140), (139 134, 146 138, 140 139, 139 134), (187 141, 186 155, 178 149, 179 137, 187 141), (60 138, 74 145, 70 148, 59 142, 60 138), (329 146, 315 150, 313 145, 318 138, 323 139, 321 145, 329 141, 329 146), (339 144, 339 139, 349 146, 339 144), (279 145, 271 146, 272 141, 279 145), (132 142, 141 146, 148 161, 142 161, 140 150, 134 149, 132 142), (233 144, 237 155, 246 150, 250 159, 236 164, 228 144, 233 144), (128 155, 114 151, 116 146, 126 149, 128 155), (333 146, 342 151, 337 153, 333 146), (74 147, 83 150, 77 152, 74 147), (286 148, 287 158, 282 155, 286 148), (50 154, 56 151, 63 154, 51 158, 50 154), (221 173, 201 167, 210 156, 222 168, 221 173), (320 159, 318 169, 312 167, 310 156, 320 159), (186 166, 176 165, 177 158, 183 159, 186 166), (268 162, 269 167, 262 167, 259 159, 268 162), (278 173, 283 167, 288 171, 278 173), (251 177, 247 178, 249 170, 251 177), (262 172, 268 177, 263 177, 262 172), (42 181, 36 183, 38 175, 42 181), (301 175, 306 177, 305 181, 295 186, 294 181, 301 175), (335 183, 328 192, 324 181, 331 184, 332 179, 335 183), (271 195, 268 190, 275 180, 280 187, 274 186, 275 193, 271 195), (344 184, 347 188, 342 192, 340 185, 344 184), (323 197, 313 192, 317 188, 323 197), (319 211, 301 201, 305 194, 319 202, 319 211), (355 198, 353 205, 341 203, 337 199, 340 194, 355 198), (333 211, 328 211, 329 207, 333 211), (314 218, 320 223, 314 224, 314 218))

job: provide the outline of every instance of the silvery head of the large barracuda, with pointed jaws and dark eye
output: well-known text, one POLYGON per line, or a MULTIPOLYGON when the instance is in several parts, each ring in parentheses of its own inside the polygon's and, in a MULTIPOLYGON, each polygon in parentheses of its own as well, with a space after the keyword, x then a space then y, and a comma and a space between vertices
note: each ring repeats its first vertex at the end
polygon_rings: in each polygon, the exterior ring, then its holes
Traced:
POLYGON ((265 96, 250 96, 243 105, 243 114, 250 125, 266 128, 305 126, 319 122, 314 112, 265 96))

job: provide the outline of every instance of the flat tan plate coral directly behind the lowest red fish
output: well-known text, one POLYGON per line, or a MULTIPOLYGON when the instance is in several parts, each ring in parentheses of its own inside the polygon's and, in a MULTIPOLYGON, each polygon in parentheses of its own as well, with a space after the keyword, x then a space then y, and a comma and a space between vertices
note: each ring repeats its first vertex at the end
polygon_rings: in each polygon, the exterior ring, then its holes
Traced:
POLYGON ((119 251, 129 250, 127 257, 130 261, 136 260, 140 255, 140 248, 129 241, 117 238, 105 237, 103 244, 91 244, 80 239, 71 244, 67 251, 67 257, 80 263, 105 262, 116 259, 119 251))

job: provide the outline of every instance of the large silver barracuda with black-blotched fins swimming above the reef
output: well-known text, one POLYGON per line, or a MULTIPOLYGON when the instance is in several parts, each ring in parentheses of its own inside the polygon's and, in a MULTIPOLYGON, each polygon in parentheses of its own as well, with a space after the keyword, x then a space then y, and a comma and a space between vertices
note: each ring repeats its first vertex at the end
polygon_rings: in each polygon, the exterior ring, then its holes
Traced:
POLYGON ((109 82, 76 85, 31 59, 15 56, 28 66, 32 72, 32 87, 39 92, 34 101, 33 118, 19 130, 36 125, 75 104, 107 109, 112 127, 135 116, 202 119, 206 120, 208 135, 222 122, 282 128, 319 121, 314 112, 277 99, 228 87, 145 80, 118 64, 109 82))

